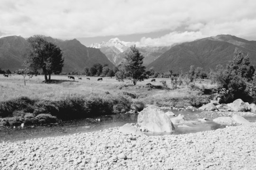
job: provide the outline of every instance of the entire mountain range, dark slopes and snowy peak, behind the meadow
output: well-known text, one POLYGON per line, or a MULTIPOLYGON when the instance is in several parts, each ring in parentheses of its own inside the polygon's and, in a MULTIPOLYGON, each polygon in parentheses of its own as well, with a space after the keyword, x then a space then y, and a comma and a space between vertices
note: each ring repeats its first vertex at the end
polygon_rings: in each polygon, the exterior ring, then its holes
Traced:
MULTIPOLYGON (((94 43, 90 47, 73 40, 59 40, 46 37, 55 43, 63 51, 63 72, 81 71, 83 68, 91 68, 93 64, 108 64, 110 68, 124 60, 129 46, 133 42, 123 42, 118 38, 108 42, 94 43)), ((144 65, 147 69, 154 67, 155 71, 174 73, 186 72, 191 65, 201 67, 204 71, 210 71, 218 64, 225 66, 232 60, 234 50, 238 48, 245 54, 249 54, 252 64, 256 65, 256 41, 248 41, 233 35, 217 35, 192 42, 184 42, 166 47, 137 47, 145 56, 144 65)), ((0 68, 15 71, 22 66, 24 53, 27 49, 27 40, 20 36, 8 36, 0 38, 0 68)))

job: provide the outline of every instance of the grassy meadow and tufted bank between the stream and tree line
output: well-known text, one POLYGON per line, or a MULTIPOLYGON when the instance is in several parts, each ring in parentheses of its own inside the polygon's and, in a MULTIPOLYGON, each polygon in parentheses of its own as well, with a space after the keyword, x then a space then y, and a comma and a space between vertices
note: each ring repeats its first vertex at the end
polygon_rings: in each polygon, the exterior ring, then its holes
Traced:
MULTIPOLYGON (((55 84, 44 84, 43 76, 34 76, 23 84, 19 75, 0 75, 0 126, 55 123, 57 120, 88 118, 99 115, 140 111, 146 104, 157 106, 200 106, 209 96, 200 95, 186 85, 166 90, 160 81, 150 80, 132 86, 114 78, 82 77, 70 81, 67 76, 53 76, 55 84), (146 85, 151 83, 153 86, 146 85)), ((170 80, 165 79, 171 87, 170 80)), ((209 85, 208 85, 209 86, 209 85)))

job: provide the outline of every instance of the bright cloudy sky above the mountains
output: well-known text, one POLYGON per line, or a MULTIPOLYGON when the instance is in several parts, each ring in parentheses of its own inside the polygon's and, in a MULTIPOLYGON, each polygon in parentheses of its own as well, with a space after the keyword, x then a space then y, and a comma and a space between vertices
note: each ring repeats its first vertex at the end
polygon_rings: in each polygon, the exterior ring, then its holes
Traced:
POLYGON ((256 40, 256 0, 0 0, 0 37, 43 34, 139 46, 231 34, 256 40))

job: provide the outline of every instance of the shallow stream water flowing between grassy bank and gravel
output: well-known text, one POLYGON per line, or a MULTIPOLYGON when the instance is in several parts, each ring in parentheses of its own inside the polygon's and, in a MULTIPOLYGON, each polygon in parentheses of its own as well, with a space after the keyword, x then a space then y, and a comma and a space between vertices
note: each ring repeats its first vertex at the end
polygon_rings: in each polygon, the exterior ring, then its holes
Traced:
MULTIPOLYGON (((168 110, 163 110, 168 111, 168 110)), ((201 111, 199 110, 171 110, 175 115, 184 115, 185 120, 195 121, 195 123, 175 125, 175 131, 173 135, 196 133, 206 130, 214 130, 218 128, 223 128, 225 126, 214 123, 209 120, 204 123, 196 121, 199 117, 201 111)), ((110 127, 120 127, 126 123, 137 123, 137 113, 134 114, 116 114, 101 116, 97 118, 90 119, 76 119, 65 121, 59 125, 51 126, 38 126, 38 127, 25 127, 21 129, 17 128, 0 128, 0 142, 3 141, 16 141, 16 140, 26 140, 30 138, 38 137, 48 137, 48 136, 62 136, 69 135, 79 132, 91 132, 97 130, 103 130, 110 127), (100 119, 100 121, 98 120, 100 119)), ((249 121, 255 122, 256 118, 246 118, 249 121)), ((170 133, 146 133, 147 135, 168 135, 170 133)))

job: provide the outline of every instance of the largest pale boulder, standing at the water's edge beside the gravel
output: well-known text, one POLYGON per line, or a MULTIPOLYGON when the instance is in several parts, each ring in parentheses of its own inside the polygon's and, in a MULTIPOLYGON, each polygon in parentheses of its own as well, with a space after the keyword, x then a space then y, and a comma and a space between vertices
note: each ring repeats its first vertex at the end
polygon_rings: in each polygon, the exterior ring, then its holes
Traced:
POLYGON ((174 124, 169 117, 155 106, 148 106, 138 114, 137 123, 151 132, 173 132, 174 124))

